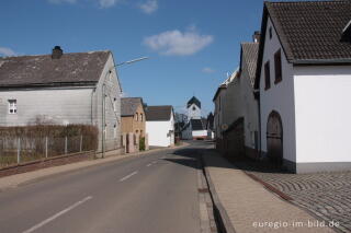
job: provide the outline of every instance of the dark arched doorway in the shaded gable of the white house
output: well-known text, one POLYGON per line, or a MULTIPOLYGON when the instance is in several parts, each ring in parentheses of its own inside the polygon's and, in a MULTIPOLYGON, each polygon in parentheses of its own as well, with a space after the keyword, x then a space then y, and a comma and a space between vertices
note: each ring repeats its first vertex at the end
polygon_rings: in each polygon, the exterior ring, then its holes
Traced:
POLYGON ((270 160, 282 165, 283 163, 283 125, 281 116, 273 110, 267 121, 267 152, 270 160))

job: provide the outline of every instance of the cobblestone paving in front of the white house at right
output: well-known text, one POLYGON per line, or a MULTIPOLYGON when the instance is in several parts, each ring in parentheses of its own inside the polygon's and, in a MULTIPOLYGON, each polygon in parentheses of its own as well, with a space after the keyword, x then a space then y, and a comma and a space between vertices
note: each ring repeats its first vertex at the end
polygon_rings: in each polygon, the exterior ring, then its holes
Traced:
POLYGON ((351 232, 351 172, 283 174, 248 172, 293 198, 325 221, 339 222, 341 232, 351 232))

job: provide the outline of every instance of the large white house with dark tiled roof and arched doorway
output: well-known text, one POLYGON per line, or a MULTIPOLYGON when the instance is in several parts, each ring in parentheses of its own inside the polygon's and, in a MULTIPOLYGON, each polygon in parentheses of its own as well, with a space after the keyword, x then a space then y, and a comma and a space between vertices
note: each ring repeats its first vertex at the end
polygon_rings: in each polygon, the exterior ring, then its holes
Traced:
POLYGON ((351 1, 265 2, 261 149, 296 173, 351 167, 351 1))

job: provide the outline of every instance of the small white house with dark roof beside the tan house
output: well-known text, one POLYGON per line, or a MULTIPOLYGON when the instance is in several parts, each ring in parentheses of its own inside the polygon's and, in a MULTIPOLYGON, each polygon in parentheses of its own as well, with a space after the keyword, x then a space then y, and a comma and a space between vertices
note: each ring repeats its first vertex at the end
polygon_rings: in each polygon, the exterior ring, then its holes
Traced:
POLYGON ((170 147, 174 144, 174 112, 170 105, 147 106, 146 132, 148 144, 152 147, 170 147))

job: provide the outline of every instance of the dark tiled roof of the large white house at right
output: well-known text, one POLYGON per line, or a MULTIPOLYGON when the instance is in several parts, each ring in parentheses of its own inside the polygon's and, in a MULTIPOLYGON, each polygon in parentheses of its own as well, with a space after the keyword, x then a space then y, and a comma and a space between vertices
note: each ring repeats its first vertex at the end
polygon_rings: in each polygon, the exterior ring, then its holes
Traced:
POLYGON ((351 63, 351 43, 342 39, 342 31, 351 20, 350 0, 264 2, 256 89, 259 88, 269 16, 288 62, 351 63))

